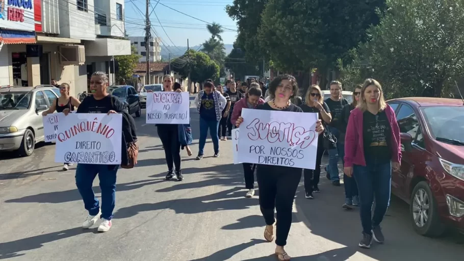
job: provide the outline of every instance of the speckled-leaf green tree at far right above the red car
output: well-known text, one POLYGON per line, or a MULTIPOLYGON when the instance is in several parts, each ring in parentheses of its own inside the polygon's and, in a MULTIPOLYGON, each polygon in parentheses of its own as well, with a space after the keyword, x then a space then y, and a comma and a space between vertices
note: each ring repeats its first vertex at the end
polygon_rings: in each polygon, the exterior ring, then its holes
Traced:
POLYGON ((464 5, 460 0, 387 0, 388 11, 353 50, 345 77, 373 77, 388 98, 448 96, 464 75, 464 5), (359 76, 357 76, 359 75, 359 76))

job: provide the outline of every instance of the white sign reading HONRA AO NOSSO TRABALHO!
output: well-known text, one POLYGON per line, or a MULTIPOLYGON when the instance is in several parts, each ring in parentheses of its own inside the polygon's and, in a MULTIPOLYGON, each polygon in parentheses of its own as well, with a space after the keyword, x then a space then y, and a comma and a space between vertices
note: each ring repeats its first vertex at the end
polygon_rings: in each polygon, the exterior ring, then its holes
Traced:
POLYGON ((189 124, 190 99, 187 92, 147 93, 147 124, 189 124))

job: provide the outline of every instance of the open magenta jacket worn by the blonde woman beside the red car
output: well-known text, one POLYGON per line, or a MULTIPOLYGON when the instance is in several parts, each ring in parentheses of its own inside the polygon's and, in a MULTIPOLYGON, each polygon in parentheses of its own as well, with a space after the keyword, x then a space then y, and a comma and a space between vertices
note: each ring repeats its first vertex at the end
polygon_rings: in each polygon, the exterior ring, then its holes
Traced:
MULTIPOLYGON (((386 118, 390 121, 392 129, 392 161, 401 162, 400 128, 396 121, 395 111, 387 105, 385 114, 386 118)), ((358 108, 351 111, 348 126, 346 127, 344 159, 345 167, 353 167, 353 164, 366 166, 363 140, 363 112, 358 108)))

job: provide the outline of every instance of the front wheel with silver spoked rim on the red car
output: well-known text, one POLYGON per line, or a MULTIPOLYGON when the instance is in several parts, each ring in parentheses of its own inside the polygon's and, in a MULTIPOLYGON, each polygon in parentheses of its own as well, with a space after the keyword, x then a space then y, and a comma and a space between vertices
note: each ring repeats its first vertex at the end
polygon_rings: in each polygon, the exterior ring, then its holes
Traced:
POLYGON ((438 214, 438 204, 426 181, 414 187, 409 213, 414 229, 422 236, 438 237, 445 231, 438 214))

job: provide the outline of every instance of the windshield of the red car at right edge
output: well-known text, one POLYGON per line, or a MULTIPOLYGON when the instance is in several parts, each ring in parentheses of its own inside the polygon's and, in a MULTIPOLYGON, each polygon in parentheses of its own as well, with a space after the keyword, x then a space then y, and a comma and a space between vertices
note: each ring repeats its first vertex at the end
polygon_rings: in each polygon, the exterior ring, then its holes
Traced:
POLYGON ((424 107, 422 112, 433 138, 464 142, 464 106, 424 107))

